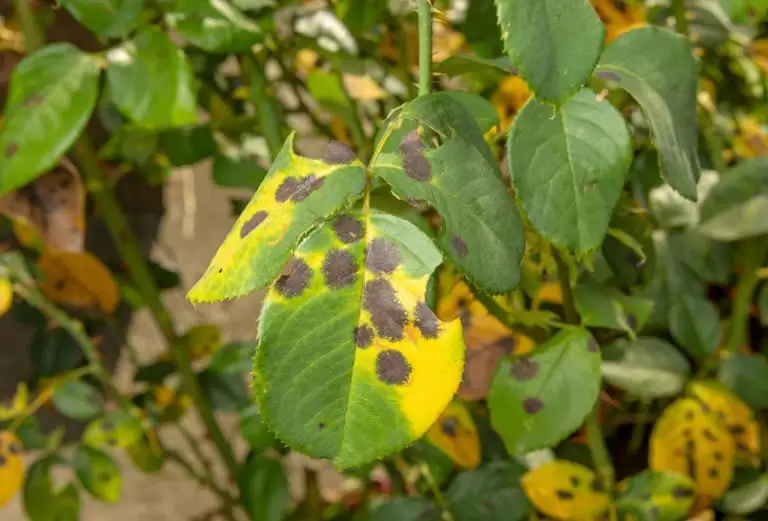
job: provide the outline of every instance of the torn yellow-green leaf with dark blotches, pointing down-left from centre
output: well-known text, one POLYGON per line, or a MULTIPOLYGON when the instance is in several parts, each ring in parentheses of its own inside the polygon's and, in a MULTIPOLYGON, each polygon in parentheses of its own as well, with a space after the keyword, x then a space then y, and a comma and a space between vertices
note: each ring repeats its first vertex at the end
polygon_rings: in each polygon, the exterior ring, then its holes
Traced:
POLYGON ((309 229, 352 201, 365 187, 365 168, 346 145, 328 145, 322 160, 297 155, 286 140, 259 189, 224 239, 193 302, 227 300, 267 285, 309 229))

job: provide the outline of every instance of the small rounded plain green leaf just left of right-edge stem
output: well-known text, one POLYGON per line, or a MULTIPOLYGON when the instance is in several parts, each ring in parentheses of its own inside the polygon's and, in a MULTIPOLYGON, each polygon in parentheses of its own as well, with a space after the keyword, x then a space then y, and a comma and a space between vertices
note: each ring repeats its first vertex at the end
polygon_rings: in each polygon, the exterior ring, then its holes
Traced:
POLYGON ((720 345, 720 315, 706 298, 677 295, 669 310, 669 330, 695 358, 709 356, 720 345))

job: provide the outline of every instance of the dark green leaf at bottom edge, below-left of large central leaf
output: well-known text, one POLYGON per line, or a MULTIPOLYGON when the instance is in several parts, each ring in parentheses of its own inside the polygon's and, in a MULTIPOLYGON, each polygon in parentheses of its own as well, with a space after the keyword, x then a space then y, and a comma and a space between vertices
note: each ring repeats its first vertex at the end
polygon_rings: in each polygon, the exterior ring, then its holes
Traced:
POLYGON ((291 497, 279 460, 252 452, 241 468, 238 485, 250 519, 280 521, 285 517, 291 497))

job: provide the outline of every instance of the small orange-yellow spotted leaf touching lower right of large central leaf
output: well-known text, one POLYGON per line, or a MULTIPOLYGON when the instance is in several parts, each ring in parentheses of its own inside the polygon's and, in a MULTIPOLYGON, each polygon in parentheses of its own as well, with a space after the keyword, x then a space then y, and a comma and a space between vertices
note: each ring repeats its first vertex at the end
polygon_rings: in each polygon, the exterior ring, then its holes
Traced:
POLYGON ((461 402, 449 403, 427 431, 426 437, 457 465, 471 469, 480 464, 480 437, 477 427, 467 407, 461 402))

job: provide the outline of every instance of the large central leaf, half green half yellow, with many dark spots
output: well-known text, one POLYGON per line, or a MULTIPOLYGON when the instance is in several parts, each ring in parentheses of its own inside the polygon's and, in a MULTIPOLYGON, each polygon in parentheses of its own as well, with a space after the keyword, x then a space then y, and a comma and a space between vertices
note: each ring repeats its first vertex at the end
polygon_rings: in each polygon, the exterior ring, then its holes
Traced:
POLYGON ((460 321, 424 303, 441 262, 416 226, 378 212, 342 214, 301 243, 259 320, 254 388, 278 438, 348 468, 432 426, 464 355, 460 321))

